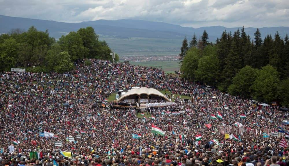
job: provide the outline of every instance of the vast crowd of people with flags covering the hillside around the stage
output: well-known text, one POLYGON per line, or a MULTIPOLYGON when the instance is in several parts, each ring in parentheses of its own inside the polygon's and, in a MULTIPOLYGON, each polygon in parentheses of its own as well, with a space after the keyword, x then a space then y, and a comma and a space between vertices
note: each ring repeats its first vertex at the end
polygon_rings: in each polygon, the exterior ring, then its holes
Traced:
POLYGON ((75 70, 62 74, 1 73, 1 165, 286 165, 287 149, 279 147, 284 133, 273 133, 280 126, 286 131, 281 123, 288 114, 277 106, 259 107, 252 100, 208 90, 181 79, 178 72, 168 75, 153 67, 90 61, 90 66, 80 61, 75 70), (165 107, 142 111, 151 118, 137 116, 135 103, 118 103, 131 106, 123 109, 106 101, 118 90, 142 86, 191 100, 176 97, 165 107), (164 136, 152 134, 152 125, 164 136), (43 137, 44 131, 54 136, 43 137), (230 138, 225 139, 226 134, 230 138), (67 141, 68 136, 74 141, 67 141), (35 159, 29 152, 42 155, 35 159))

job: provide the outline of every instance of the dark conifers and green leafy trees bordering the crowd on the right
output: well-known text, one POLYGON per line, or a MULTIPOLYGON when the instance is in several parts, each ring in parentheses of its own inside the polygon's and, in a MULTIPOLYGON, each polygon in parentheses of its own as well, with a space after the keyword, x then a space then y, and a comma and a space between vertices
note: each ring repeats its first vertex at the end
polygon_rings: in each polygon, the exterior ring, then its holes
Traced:
POLYGON ((179 54, 182 77, 216 86, 223 92, 262 102, 278 101, 289 106, 289 39, 278 31, 261 38, 259 29, 253 39, 238 29, 224 31, 213 44, 208 33, 197 40, 183 40, 179 54))

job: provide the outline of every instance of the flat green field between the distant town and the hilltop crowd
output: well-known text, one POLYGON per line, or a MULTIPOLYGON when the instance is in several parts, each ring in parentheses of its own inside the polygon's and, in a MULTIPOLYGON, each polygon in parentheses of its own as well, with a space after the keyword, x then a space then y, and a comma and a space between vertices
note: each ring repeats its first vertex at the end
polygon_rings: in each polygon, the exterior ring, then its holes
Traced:
POLYGON ((147 61, 147 62, 129 62, 132 65, 140 66, 150 66, 150 67, 159 67, 162 66, 162 69, 166 73, 174 73, 175 70, 179 70, 179 61, 147 61))

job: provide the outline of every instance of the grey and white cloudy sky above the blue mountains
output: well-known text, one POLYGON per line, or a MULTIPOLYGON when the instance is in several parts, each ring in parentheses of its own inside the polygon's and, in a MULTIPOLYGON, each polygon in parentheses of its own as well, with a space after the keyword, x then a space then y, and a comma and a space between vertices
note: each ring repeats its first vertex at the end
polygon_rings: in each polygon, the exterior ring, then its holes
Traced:
POLYGON ((0 0, 0 14, 62 22, 141 19, 186 27, 289 26, 289 0, 0 0))

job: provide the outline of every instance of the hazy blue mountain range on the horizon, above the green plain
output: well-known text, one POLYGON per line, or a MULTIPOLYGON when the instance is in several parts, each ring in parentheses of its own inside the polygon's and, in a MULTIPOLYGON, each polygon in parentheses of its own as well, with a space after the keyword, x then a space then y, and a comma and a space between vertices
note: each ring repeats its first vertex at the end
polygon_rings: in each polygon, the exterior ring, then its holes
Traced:
MULTIPOLYGON (((187 36, 188 39, 195 33, 197 37, 201 36, 203 31, 208 32, 210 41, 215 41, 220 37, 224 30, 232 33, 238 28, 226 28, 222 26, 191 28, 182 27, 180 25, 168 24, 164 22, 153 22, 144 20, 96 20, 80 23, 66 23, 50 20, 38 20, 30 18, 18 18, 0 15, 0 33, 7 33, 11 29, 21 28, 27 30, 34 26, 38 30, 45 31, 48 29, 49 34, 56 39, 61 35, 65 35, 70 31, 77 31, 81 27, 91 26, 96 33, 106 37, 129 38, 129 37, 149 37, 149 38, 165 38, 165 39, 183 39, 187 36)), ((257 28, 245 28, 247 34, 251 36, 257 28)), ((283 37, 289 33, 289 27, 264 27, 259 28, 262 37, 267 34, 274 35, 276 31, 283 37)))

